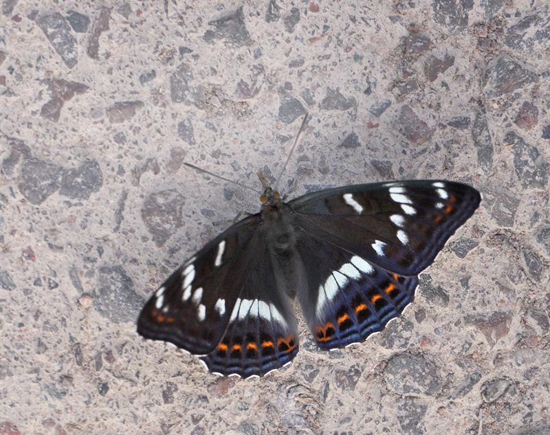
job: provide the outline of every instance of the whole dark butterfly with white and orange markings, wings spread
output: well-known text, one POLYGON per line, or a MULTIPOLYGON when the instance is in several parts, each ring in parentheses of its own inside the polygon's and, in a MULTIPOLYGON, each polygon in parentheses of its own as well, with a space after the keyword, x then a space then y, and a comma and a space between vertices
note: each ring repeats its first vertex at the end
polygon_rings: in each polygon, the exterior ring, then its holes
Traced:
POLYGON ((319 348, 362 342, 415 297, 418 275, 474 213, 453 181, 331 188, 261 211, 189 258, 145 304, 143 337, 200 355, 210 372, 263 376, 298 353, 297 297, 319 348))

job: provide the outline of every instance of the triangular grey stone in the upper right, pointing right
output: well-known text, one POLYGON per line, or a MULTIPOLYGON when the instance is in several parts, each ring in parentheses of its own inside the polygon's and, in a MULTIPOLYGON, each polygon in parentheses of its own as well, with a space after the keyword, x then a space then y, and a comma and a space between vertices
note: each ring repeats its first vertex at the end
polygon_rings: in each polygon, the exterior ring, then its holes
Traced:
POLYGON ((486 98, 496 98, 538 82, 538 75, 507 54, 492 60, 483 76, 486 98))

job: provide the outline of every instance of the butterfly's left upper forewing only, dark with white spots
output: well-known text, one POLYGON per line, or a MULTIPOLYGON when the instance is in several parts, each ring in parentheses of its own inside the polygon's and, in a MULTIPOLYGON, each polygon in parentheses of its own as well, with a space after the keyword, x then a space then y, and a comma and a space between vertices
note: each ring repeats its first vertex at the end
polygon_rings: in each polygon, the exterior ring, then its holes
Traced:
POLYGON ((248 276, 259 215, 210 241, 181 265, 143 307, 137 332, 206 355, 220 342, 248 276))

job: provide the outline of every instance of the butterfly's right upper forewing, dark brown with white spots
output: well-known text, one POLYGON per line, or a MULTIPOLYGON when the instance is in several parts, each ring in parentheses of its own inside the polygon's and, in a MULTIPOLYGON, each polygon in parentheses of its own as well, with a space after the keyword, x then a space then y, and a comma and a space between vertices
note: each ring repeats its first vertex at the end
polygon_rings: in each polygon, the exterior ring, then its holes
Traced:
POLYGON ((478 208, 452 181, 396 181, 321 190, 289 201, 299 225, 382 269, 415 276, 478 208))

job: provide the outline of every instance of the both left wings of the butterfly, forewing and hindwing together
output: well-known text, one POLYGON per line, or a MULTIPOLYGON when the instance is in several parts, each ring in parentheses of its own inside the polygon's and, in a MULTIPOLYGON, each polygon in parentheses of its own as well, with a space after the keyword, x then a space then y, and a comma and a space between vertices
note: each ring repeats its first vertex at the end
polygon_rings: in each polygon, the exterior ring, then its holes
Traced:
POLYGON ((171 342, 221 375, 265 375, 298 353, 287 296, 278 289, 259 214, 214 238, 159 287, 140 335, 171 342))

